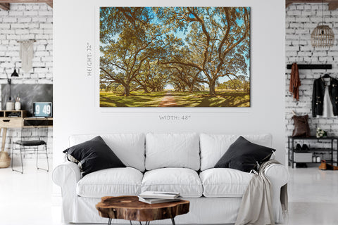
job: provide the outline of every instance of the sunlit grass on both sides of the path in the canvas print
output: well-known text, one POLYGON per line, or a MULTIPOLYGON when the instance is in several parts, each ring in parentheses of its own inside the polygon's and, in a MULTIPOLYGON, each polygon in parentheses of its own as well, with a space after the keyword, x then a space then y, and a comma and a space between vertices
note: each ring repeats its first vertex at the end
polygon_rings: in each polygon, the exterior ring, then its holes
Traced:
MULTIPOLYGON (((101 107, 157 107, 167 91, 144 94, 133 91, 130 96, 112 92, 100 92, 101 107)), ((208 91, 194 93, 170 91, 179 107, 249 107, 250 95, 241 91, 216 91, 210 96, 208 91)))

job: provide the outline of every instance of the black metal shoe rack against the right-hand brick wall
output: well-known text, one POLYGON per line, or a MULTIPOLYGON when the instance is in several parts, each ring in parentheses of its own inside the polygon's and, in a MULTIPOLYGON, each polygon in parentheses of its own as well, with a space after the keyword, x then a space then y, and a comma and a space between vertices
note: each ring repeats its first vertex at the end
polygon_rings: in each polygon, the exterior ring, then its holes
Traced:
MULTIPOLYGON (((289 136, 288 137, 288 153, 289 153, 289 165, 292 164, 292 168, 294 168, 294 163, 296 163, 294 159, 295 153, 330 153, 331 154, 331 160, 327 160, 327 162, 330 162, 332 164, 338 162, 338 136, 326 136, 323 138, 317 138, 315 136, 310 137, 301 137, 301 136, 289 136), (331 148, 310 148, 308 150, 296 150, 296 141, 327 141, 328 143, 331 143, 331 148), (334 142, 335 142, 335 148, 334 148, 334 142), (337 155, 335 157, 335 160, 333 158, 333 153, 336 152, 337 155)), ((312 158, 311 158, 312 159, 312 158)), ((305 162, 305 163, 319 163, 319 162, 305 162)))

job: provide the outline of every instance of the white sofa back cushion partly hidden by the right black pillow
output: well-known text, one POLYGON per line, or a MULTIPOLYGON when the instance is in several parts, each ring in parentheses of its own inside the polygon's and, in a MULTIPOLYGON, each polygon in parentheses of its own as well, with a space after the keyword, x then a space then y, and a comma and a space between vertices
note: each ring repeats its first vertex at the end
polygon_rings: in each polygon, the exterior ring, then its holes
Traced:
MULTIPOLYGON (((241 135, 200 134, 201 170, 213 168, 227 149, 241 135)), ((272 146, 271 134, 242 135, 244 139, 261 146, 272 146)))

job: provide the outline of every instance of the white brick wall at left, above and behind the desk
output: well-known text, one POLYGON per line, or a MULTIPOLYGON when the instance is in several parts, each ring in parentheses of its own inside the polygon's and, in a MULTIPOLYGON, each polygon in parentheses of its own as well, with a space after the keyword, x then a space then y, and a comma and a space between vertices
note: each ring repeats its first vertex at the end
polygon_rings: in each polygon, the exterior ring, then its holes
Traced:
MULTIPOLYGON (((33 68, 12 79, 12 84, 53 84, 53 9, 46 4, 11 4, 10 11, 0 9, 0 77, 11 76, 14 66, 21 67, 18 40, 35 39, 33 68)), ((6 84, 0 79, 0 84, 6 84)), ((0 89, 1 94, 1 89, 0 89)), ((0 98, 1 107, 1 98, 0 98)), ((2 135, 2 134, 1 134, 2 135)), ((6 150, 18 130, 8 129, 6 150)), ((49 155, 52 153, 52 129, 49 129, 49 155)), ((32 155, 26 155, 32 157, 32 155)))

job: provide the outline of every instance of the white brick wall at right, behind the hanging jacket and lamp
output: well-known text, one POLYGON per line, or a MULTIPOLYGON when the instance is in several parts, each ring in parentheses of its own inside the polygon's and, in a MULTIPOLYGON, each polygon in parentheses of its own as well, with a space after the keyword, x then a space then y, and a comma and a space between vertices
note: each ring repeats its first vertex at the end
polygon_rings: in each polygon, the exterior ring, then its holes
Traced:
MULTIPOLYGON (((299 88, 299 101, 294 101, 289 93, 289 79, 291 70, 286 70, 286 134, 292 134, 294 123, 292 110, 298 115, 309 115, 311 134, 315 135, 315 129, 320 127, 327 131, 330 136, 338 136, 337 118, 313 118, 311 115, 311 102, 313 93, 313 82, 325 73, 331 77, 338 78, 338 10, 329 11, 328 5, 324 4, 292 4, 286 8, 286 63, 298 64, 332 64, 332 70, 299 70, 301 86, 299 88), (334 34, 334 46, 330 49, 314 49, 311 46, 311 32, 322 21, 322 9, 324 10, 325 25, 329 25, 334 34)), ((308 143, 308 142, 304 142, 308 143)), ((302 142, 301 142, 302 144, 302 142)), ((330 144, 322 141, 310 142, 311 147, 330 147, 330 144)), ((325 155, 324 158, 328 158, 325 155)))

